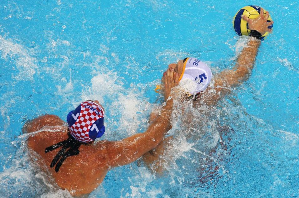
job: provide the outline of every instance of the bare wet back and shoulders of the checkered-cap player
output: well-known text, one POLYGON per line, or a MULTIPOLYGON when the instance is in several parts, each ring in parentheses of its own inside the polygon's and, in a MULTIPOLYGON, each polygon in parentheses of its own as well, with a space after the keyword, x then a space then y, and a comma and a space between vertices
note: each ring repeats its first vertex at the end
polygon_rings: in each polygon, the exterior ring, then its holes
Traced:
MULTIPOLYGON (((61 126, 64 122, 55 115, 44 115, 35 118, 27 123, 23 130, 27 133, 35 132, 45 126, 61 126)), ((28 138, 27 145, 32 152, 34 159, 38 153, 37 163, 40 167, 46 168, 51 172, 58 186, 62 189, 67 188, 72 195, 87 194, 93 191, 103 181, 109 169, 108 147, 112 142, 99 141, 88 145, 81 145, 80 155, 68 157, 58 172, 50 168, 50 164, 57 154, 56 152, 45 153, 45 148, 61 142, 68 138, 67 127, 61 126, 61 132, 41 131, 28 138)), ((58 150, 58 149, 57 149, 58 150)), ((111 150, 111 149, 110 149, 111 150)))

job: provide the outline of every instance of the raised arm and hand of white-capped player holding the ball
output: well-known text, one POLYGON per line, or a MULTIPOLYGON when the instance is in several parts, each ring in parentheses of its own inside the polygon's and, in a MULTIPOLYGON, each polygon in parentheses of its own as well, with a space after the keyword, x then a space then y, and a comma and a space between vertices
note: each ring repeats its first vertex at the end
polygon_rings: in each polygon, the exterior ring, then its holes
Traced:
MULTIPOLYGON (((263 8, 261 8, 258 18, 249 19, 246 16, 243 16, 243 19, 248 22, 250 30, 256 30, 261 35, 264 35, 267 31, 270 33, 272 32, 272 29, 269 29, 268 27, 271 26, 273 22, 267 22, 268 17, 269 12, 264 16, 263 8)), ((219 97, 229 93, 231 88, 242 84, 248 79, 255 63, 258 47, 261 44, 260 40, 252 36, 249 37, 247 46, 244 47, 236 61, 236 66, 232 70, 224 70, 219 75, 215 76, 215 91, 217 94, 213 96, 212 101, 218 101, 219 97)))

